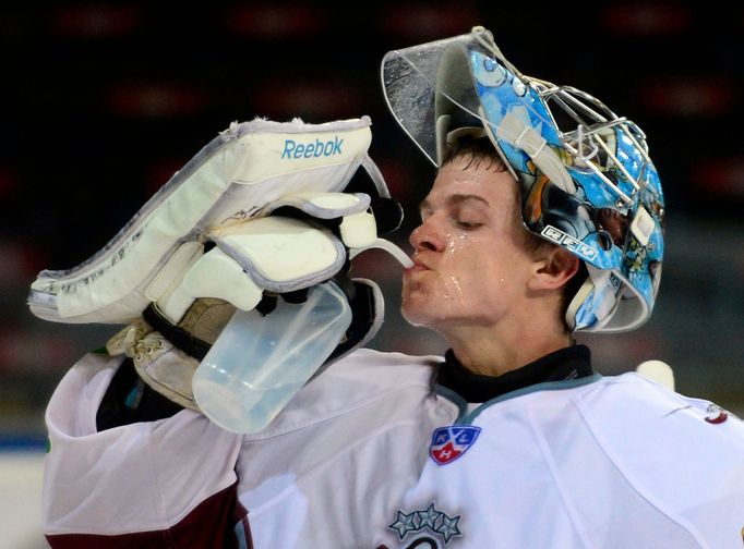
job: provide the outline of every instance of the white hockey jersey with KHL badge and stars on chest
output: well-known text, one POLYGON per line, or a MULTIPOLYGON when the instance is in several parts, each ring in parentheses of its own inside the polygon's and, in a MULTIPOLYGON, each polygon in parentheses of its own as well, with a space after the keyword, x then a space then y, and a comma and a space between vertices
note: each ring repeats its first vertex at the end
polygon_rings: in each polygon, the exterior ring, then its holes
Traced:
POLYGON ((468 411, 435 386, 440 362, 357 351, 241 437, 188 410, 96 432, 120 359, 87 355, 47 411, 45 532, 55 547, 189 547, 177 538, 197 526, 171 533, 232 487, 255 549, 742 548, 736 417, 635 374, 468 411))

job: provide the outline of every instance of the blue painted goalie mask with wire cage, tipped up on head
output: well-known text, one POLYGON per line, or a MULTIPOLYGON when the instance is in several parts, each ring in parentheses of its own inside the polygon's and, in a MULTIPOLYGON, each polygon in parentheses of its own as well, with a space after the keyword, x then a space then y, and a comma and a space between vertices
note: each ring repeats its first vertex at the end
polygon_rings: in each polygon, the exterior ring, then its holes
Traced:
POLYGON ((526 228, 589 276, 568 305, 574 331, 626 331, 653 308, 664 202, 646 136, 590 95, 525 76, 490 32, 389 51, 387 105, 434 166, 459 136, 488 136, 519 182, 526 228))

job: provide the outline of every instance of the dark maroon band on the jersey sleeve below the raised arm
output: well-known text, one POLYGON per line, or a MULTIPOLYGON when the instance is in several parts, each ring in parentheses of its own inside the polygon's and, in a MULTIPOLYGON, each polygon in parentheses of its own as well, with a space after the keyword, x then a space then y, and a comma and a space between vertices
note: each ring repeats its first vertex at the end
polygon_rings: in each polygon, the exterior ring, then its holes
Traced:
MULTIPOLYGON (((55 549, 163 549, 224 548, 253 546, 248 513, 237 497, 237 486, 218 491, 202 501, 170 528, 132 534, 55 534, 47 541, 55 549), (242 539, 239 539, 242 538, 242 539)), ((116 495, 111 495, 116 498, 116 495)), ((132 502, 136 504, 136 502, 132 502)))

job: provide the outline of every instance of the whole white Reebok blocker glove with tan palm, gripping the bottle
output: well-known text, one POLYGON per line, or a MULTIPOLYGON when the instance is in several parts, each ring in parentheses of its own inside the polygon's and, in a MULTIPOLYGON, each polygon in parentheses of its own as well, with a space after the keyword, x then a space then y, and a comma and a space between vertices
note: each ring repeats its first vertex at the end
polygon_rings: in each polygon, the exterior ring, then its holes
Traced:
MULTIPOLYGON (((400 209, 391 207, 367 154, 370 124, 367 117, 232 124, 106 247, 76 268, 40 272, 32 284, 32 312, 60 322, 131 322, 109 342, 109 352, 132 356, 151 387, 196 410, 191 373, 236 308, 250 310, 265 306, 266 297, 297 297, 343 279, 349 256, 368 247, 408 260, 377 237, 377 210, 387 213, 383 224, 397 228, 400 209), (344 193, 360 166, 372 194, 344 193)), ((339 285, 369 309, 372 320, 352 322, 353 339, 368 341, 382 313, 376 286, 348 279, 339 285), (356 292, 361 288, 367 290, 356 292)), ((348 338, 344 343, 339 347, 348 352, 348 338)))

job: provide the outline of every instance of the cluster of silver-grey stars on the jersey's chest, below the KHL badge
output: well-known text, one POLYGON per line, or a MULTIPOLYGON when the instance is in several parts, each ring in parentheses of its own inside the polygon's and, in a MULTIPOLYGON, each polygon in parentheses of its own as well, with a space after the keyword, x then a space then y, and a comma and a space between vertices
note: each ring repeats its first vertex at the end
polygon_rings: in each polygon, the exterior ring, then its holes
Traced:
MULTIPOLYGON (((446 513, 437 510, 432 502, 427 509, 405 513, 398 510, 395 521, 388 524, 387 527, 398 535, 398 539, 403 539, 412 535, 412 547, 441 547, 441 542, 449 545, 452 538, 461 536, 457 523, 460 515, 449 516, 446 513), (432 537, 433 536, 433 537, 432 537)), ((408 542, 408 541, 407 541, 408 542)), ((381 546, 384 547, 384 546, 381 546)))

